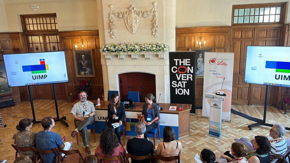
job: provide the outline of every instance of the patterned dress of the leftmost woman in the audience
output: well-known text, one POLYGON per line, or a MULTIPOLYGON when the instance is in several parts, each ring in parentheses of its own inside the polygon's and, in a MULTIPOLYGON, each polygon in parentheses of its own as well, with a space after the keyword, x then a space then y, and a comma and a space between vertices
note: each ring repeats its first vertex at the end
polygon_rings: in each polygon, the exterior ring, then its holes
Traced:
MULTIPOLYGON (((24 131, 18 131, 16 134, 14 134, 14 144, 16 144, 18 147, 34 147, 35 146, 35 137, 36 133, 24 130, 24 131)), ((26 155, 30 157, 32 160, 34 152, 33 151, 27 151, 22 152, 18 151, 19 155, 26 155)))

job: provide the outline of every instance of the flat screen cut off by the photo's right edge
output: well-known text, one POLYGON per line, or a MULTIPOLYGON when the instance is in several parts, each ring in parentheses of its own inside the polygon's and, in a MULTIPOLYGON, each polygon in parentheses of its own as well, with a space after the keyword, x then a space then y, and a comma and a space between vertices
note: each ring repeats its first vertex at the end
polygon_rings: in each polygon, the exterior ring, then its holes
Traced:
POLYGON ((245 83, 290 87, 290 47, 247 46, 245 83))

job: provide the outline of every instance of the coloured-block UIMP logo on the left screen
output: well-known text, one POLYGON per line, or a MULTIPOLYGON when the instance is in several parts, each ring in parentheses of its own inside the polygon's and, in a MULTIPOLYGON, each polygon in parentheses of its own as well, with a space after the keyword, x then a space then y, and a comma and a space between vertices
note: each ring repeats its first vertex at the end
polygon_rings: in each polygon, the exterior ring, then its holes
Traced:
MULTIPOLYGON (((26 65, 22 66, 23 72, 31 72, 31 74, 40 74, 40 73, 46 73, 48 70, 48 64, 45 64, 44 59, 39 59, 40 64, 39 65, 26 65)), ((47 75, 32 75, 32 79, 45 79, 47 75)))

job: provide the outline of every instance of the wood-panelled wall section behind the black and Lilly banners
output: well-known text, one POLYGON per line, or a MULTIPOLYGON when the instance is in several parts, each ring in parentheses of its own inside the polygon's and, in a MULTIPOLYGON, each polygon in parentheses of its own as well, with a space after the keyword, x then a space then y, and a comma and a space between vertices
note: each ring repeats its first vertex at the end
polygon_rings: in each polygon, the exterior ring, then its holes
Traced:
MULTIPOLYGON (((198 46, 201 37, 214 52, 230 52, 230 27, 192 27, 176 29, 176 51, 189 51, 198 46)), ((196 105, 202 105, 203 78, 196 78, 196 105)))

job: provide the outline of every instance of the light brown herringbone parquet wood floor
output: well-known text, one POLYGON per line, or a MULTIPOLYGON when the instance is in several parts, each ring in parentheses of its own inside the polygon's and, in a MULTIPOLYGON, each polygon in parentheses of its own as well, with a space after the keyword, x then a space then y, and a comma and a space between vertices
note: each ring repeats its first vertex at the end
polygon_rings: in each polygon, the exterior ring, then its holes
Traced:
MULTIPOLYGON (((58 100, 58 108, 60 117, 66 116, 66 122, 69 123, 69 127, 64 126, 60 122, 55 123, 54 132, 59 133, 61 136, 66 136, 66 140, 72 140, 74 149, 79 149, 81 152, 85 152, 82 141, 79 145, 76 144, 76 138, 70 136, 71 131, 74 129, 73 118, 71 117, 70 110, 71 104, 64 100, 58 100)), ((237 106, 233 105, 233 109, 246 113, 247 115, 263 118, 263 106, 237 106)), ((40 120, 43 117, 51 116, 56 117, 55 106, 53 100, 34 100, 34 110, 36 119, 40 120)), ((14 107, 0 109, 4 123, 7 127, 0 127, 0 160, 7 159, 9 162, 13 162, 15 157, 15 151, 11 144, 13 143, 12 136, 17 132, 16 125, 21 118, 14 118, 8 116, 17 115, 17 117, 30 117, 32 118, 30 102, 19 102, 14 107)), ((290 113, 283 114, 282 110, 278 110, 275 107, 268 107, 267 110, 267 123, 282 123, 283 125, 290 127, 290 113)), ((196 153, 204 148, 214 151, 216 156, 221 155, 226 150, 230 149, 230 145, 234 142, 234 138, 247 137, 253 138, 255 135, 269 135, 270 127, 258 126, 249 130, 247 126, 254 123, 243 117, 231 114, 231 122, 222 123, 222 135, 220 140, 205 136, 208 133, 208 119, 201 117, 201 110, 197 110, 196 116, 190 116, 190 136, 180 139, 182 142, 182 162, 195 162, 194 156, 196 153)), ((41 124, 34 124, 31 131, 38 132, 42 130, 41 124)), ((285 137, 289 137, 289 131, 286 131, 285 137)), ((127 136, 126 142, 132 136, 127 136)), ((81 138, 80 138, 81 139, 81 138)), ((96 134, 97 142, 93 141, 93 135, 89 134, 89 146, 92 153, 95 151, 96 146, 99 144, 100 134, 96 134)), ((122 139, 122 138, 121 138, 122 139)), ((150 139, 153 142, 153 139, 150 139)), ((162 141, 162 139, 160 140, 162 141)), ((156 146, 160 142, 156 139, 156 146)), ((121 142, 123 142, 121 140, 121 142)), ((126 145, 124 146, 126 148, 126 145)))

